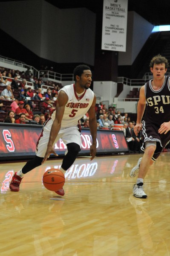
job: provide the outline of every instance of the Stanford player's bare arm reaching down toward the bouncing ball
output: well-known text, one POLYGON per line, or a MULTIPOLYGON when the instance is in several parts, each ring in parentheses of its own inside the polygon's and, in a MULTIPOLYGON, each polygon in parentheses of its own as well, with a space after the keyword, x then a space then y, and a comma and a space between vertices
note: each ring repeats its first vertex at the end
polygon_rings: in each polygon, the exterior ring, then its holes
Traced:
POLYGON ((50 154, 55 154, 56 156, 58 156, 54 151, 53 144, 61 128, 61 121, 63 119, 63 114, 64 114, 65 105, 67 101, 68 101, 67 94, 63 90, 61 90, 60 93, 58 93, 58 101, 55 108, 56 110, 55 120, 52 124, 52 128, 49 135, 49 142, 47 145, 46 154, 43 158, 42 164, 47 160, 50 154))

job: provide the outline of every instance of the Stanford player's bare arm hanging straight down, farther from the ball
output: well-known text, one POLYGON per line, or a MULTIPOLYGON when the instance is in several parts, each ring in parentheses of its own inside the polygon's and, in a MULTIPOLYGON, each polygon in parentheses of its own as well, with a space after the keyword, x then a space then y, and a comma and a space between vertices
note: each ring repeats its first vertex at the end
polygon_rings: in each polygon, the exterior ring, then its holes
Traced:
POLYGON ((89 128, 90 133, 92 135, 92 145, 90 146, 90 155, 92 156, 90 160, 93 160, 96 154, 96 138, 97 138, 97 120, 95 115, 95 104, 96 104, 96 96, 94 96, 91 107, 89 108, 89 128))

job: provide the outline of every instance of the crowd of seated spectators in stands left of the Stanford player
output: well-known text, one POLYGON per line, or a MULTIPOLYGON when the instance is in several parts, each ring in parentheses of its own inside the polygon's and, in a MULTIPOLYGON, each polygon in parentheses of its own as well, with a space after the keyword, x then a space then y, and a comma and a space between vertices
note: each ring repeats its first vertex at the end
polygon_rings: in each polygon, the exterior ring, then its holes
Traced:
POLYGON ((0 117, 0 122, 14 123, 10 118, 14 115, 13 118, 18 119, 19 123, 23 123, 25 119, 26 123, 43 125, 55 109, 58 90, 61 88, 61 85, 44 79, 45 77, 46 73, 41 74, 40 78, 34 77, 30 68, 26 72, 19 72, 0 67, 0 112, 6 113, 3 119, 0 117), (28 86, 28 82, 32 82, 33 87, 28 86), (43 84, 47 85, 47 89, 43 88, 42 93, 43 84), (21 113, 25 115, 20 117, 21 113), (35 115, 39 115, 38 122, 35 115))

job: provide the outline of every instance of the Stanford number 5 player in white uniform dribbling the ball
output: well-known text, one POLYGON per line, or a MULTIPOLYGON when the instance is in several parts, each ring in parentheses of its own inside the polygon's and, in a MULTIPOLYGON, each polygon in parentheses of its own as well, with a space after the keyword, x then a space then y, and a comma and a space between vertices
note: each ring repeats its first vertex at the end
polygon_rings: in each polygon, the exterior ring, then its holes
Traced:
MULTIPOLYGON (((96 154, 97 121, 95 116, 96 96, 89 88, 92 82, 92 73, 88 66, 79 65, 74 70, 75 84, 66 85, 58 93, 56 109, 43 126, 36 145, 36 156, 28 161, 23 168, 15 172, 10 183, 10 190, 19 191, 23 176, 37 166, 43 164, 50 154, 55 154, 54 145, 62 139, 67 146, 61 171, 65 172, 74 163, 78 152, 81 151, 81 134, 78 120, 86 112, 89 114, 89 128, 92 135, 90 147, 91 160, 96 154)), ((64 195, 63 188, 56 191, 64 195)))

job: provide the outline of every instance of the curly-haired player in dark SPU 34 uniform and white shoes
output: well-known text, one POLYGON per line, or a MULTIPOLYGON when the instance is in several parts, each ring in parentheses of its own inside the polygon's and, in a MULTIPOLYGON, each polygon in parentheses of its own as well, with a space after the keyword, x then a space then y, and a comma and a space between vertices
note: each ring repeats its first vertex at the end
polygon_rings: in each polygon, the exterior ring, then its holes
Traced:
POLYGON ((144 155, 130 172, 130 177, 138 175, 133 186, 133 195, 137 198, 147 198, 143 189, 144 177, 149 166, 156 161, 170 141, 170 78, 165 76, 167 67, 168 61, 165 57, 161 55, 153 57, 150 62, 153 79, 140 90, 134 132, 137 136, 142 129, 144 143, 141 150, 144 151, 144 155), (144 114, 146 101, 147 109, 144 114))

